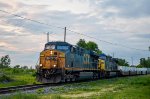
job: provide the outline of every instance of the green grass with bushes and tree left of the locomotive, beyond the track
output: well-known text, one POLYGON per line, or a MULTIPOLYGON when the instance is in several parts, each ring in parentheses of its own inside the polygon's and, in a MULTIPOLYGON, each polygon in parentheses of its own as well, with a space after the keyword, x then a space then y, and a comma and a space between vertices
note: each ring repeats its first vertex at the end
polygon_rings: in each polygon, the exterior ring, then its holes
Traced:
POLYGON ((38 83, 35 80, 35 70, 20 65, 10 67, 9 55, 0 59, 0 88, 8 86, 26 85, 38 83))

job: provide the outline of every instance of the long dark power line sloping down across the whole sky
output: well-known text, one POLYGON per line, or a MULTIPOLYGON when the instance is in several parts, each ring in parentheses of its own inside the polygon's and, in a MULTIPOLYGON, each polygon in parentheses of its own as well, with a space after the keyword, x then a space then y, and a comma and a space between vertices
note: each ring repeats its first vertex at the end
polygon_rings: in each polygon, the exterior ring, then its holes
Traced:
MULTIPOLYGON (((13 15, 13 16, 16 16, 16 17, 20 17, 20 18, 25 19, 25 20, 29 20, 29 21, 32 21, 32 22, 36 22, 36 23, 39 23, 39 24, 43 24, 43 25, 47 25, 47 26, 52 26, 52 27, 55 27, 55 28, 59 28, 59 29, 63 29, 63 30, 64 30, 63 27, 58 27, 58 26, 50 25, 50 24, 43 23, 43 22, 40 22, 40 21, 37 21, 37 20, 33 20, 33 19, 30 19, 30 18, 22 17, 22 16, 20 16, 20 15, 13 14, 13 13, 10 13, 10 12, 4 11, 4 10, 0 10, 0 11, 1 11, 1 12, 4 12, 4 13, 7 13, 7 14, 10 14, 10 15, 13 15)), ((73 33, 76 33, 76 34, 83 35, 83 36, 88 37, 88 38, 92 38, 92 39, 98 40, 98 41, 100 41, 100 42, 107 43, 107 44, 111 44, 111 45, 115 45, 115 46, 121 46, 121 47, 128 48, 128 49, 134 49, 134 50, 140 50, 140 51, 148 51, 148 50, 145 50, 145 49, 138 49, 138 48, 128 47, 128 46, 121 45, 121 44, 117 44, 117 43, 108 42, 108 41, 101 40, 101 39, 98 39, 98 38, 95 38, 95 37, 92 37, 92 36, 89 36, 89 35, 85 35, 85 34, 82 34, 82 33, 79 33, 79 32, 75 32, 75 31, 70 30, 70 29, 66 29, 66 30, 68 30, 68 31, 70 31, 70 32, 73 32, 73 33)))

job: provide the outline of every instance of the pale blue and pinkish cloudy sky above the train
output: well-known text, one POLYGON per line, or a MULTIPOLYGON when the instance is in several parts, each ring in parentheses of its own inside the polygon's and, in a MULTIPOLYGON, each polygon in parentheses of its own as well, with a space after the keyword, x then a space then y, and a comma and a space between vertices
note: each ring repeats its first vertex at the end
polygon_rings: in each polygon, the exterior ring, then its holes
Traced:
POLYGON ((63 41, 67 27, 96 38, 67 31, 67 42, 94 41, 105 54, 130 64, 133 58, 137 65, 140 58, 150 57, 149 5, 150 0, 0 0, 0 57, 8 54, 12 66, 34 68, 47 42, 46 33, 50 41, 63 41))

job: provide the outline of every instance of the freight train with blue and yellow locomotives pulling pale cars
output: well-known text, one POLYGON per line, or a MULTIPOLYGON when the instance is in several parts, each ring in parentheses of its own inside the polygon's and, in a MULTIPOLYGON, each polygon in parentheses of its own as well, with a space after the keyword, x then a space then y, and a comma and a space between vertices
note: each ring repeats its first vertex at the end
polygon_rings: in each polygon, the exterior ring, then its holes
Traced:
POLYGON ((45 44, 36 68, 36 79, 42 83, 150 73, 147 68, 118 66, 115 58, 59 41, 45 44))

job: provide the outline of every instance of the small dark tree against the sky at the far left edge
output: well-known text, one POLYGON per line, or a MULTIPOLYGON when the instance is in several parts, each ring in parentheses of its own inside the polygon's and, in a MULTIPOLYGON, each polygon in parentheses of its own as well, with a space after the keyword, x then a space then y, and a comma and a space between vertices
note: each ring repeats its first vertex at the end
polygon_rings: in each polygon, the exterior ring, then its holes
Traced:
POLYGON ((8 68, 10 66, 10 57, 9 55, 2 56, 0 59, 0 68, 8 68))

